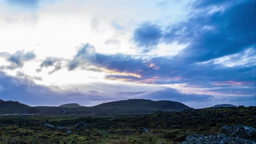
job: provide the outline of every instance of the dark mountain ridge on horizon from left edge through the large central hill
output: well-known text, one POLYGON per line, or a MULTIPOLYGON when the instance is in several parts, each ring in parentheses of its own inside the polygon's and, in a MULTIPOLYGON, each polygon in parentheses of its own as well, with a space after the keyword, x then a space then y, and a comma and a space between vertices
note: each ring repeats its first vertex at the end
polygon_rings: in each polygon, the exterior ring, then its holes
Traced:
POLYGON ((189 106, 176 101, 148 99, 129 99, 112 101, 96 106, 86 107, 79 104, 64 104, 60 106, 35 106, 31 107, 18 101, 0 102, 0 114, 9 113, 40 113, 43 115, 59 115, 65 110, 65 115, 85 114, 138 114, 153 113, 156 111, 180 111, 191 109, 189 106), (60 108, 58 108, 60 107, 60 108))

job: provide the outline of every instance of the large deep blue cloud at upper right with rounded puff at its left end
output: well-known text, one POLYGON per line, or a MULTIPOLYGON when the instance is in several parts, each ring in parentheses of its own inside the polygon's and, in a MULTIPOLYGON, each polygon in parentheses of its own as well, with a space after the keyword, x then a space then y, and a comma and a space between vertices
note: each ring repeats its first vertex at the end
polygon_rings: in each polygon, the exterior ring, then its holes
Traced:
POLYGON ((188 44, 176 57, 187 63, 209 61, 248 47, 255 49, 255 1, 196 1, 193 4, 195 8, 224 5, 224 10, 205 9, 192 13, 185 22, 164 28, 142 25, 135 29, 133 40, 138 46, 174 42, 188 44), (164 29, 163 32, 160 29, 164 29))

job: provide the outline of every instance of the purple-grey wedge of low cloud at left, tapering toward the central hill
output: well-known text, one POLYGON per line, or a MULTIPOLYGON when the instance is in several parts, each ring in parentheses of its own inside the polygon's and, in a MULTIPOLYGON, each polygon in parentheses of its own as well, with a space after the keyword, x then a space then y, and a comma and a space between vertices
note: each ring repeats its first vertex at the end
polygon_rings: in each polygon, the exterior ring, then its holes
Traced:
POLYGON ((0 71, 0 99, 20 101, 28 105, 60 105, 65 103, 91 105, 91 103, 99 104, 118 99, 110 96, 110 94, 81 93, 60 88, 56 91, 52 89, 54 86, 50 88, 37 85, 29 80, 27 75, 19 75, 21 76, 8 76, 0 71))

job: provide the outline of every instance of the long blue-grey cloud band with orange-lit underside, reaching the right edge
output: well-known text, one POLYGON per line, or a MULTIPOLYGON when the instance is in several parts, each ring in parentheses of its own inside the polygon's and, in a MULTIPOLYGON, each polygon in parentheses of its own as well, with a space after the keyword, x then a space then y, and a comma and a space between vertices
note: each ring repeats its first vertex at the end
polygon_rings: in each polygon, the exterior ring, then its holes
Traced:
MULTIPOLYGON (((91 70, 100 69, 108 73, 105 76, 108 80, 167 85, 187 83, 192 87, 219 87, 219 92, 221 92, 220 89, 228 86, 230 93, 233 92, 234 95, 237 94, 235 88, 247 87, 245 91, 255 92, 253 63, 225 67, 216 62, 185 63, 182 59, 177 61, 176 57, 137 58, 123 54, 106 55, 97 53, 95 50, 89 52, 87 47, 88 45, 82 46, 74 56, 69 63, 69 70, 74 68, 90 70, 89 68, 92 67, 91 70)), ((94 49, 93 46, 90 47, 94 49)), ((241 55, 242 53, 245 52, 241 52, 241 55)), ((251 55, 248 56, 251 57, 251 55)), ((242 94, 246 94, 245 91, 242 94)))

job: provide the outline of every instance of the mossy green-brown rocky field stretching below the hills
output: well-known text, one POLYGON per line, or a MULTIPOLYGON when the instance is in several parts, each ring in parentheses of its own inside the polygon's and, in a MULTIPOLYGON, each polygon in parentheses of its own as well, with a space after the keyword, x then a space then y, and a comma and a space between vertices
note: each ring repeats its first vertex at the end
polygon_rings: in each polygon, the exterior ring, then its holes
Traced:
POLYGON ((207 108, 145 115, 0 116, 0 143, 181 143, 190 134, 219 134, 223 125, 256 127, 256 107, 207 108), (86 129, 74 129, 79 122, 86 129), (44 126, 68 127, 72 132, 44 126))

